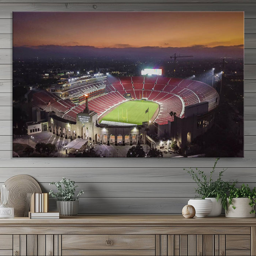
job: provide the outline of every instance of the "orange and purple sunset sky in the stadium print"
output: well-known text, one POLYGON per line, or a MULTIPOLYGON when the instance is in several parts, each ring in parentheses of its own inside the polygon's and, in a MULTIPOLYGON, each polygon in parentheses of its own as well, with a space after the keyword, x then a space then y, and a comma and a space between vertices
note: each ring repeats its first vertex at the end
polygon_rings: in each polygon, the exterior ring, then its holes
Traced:
POLYGON ((244 44, 244 12, 14 12, 14 46, 244 44))

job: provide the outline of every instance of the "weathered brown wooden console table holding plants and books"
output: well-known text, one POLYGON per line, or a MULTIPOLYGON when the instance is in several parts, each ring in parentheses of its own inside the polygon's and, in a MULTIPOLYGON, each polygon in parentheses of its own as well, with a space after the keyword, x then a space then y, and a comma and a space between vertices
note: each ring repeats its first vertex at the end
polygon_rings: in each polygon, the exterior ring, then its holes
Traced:
POLYGON ((255 218, 15 218, 0 230, 0 255, 256 255, 255 218))

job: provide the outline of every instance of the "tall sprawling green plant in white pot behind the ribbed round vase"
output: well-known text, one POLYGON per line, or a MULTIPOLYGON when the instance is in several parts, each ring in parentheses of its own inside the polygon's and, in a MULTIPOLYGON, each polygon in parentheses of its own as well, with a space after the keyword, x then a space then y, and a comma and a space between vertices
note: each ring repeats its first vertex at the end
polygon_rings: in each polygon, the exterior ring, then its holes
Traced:
MULTIPOLYGON (((228 192, 231 183, 222 180, 223 172, 226 169, 219 172, 217 180, 213 180, 212 176, 215 172, 218 161, 219 158, 216 158, 209 177, 204 173, 204 171, 198 170, 198 168, 196 168, 196 171, 191 167, 189 170, 183 169, 186 170, 192 177, 193 181, 196 182, 197 187, 195 188, 195 192, 198 194, 198 197, 201 197, 201 199, 210 199, 212 201, 213 206, 212 210, 208 214, 209 216, 219 216, 222 211, 222 206, 226 209, 226 193, 228 192)), ((236 183, 237 181, 234 181, 232 184, 235 185, 236 183)))

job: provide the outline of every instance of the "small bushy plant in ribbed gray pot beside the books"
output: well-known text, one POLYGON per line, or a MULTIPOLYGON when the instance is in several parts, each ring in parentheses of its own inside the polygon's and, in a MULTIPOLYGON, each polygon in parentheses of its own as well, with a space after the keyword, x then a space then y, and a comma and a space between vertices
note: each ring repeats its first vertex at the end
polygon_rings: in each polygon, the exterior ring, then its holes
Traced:
POLYGON ((75 182, 70 179, 62 178, 60 182, 50 182, 49 185, 55 185, 58 189, 57 193, 50 190, 49 195, 56 197, 57 208, 60 215, 76 215, 78 214, 79 196, 84 193, 83 190, 75 196, 75 182))

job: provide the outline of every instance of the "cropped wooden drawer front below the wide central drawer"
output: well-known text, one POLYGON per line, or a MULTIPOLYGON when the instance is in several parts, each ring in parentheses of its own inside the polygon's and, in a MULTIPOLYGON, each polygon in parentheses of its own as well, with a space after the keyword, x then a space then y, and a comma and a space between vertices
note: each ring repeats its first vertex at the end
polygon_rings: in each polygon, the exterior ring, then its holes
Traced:
POLYGON ((87 256, 153 256, 155 250, 63 250, 62 255, 87 256))

